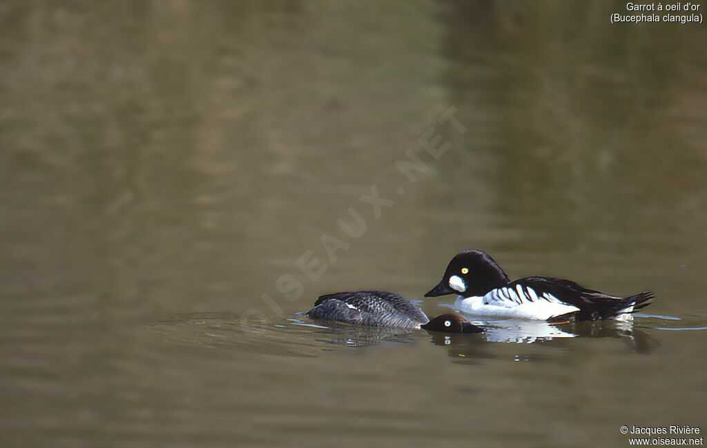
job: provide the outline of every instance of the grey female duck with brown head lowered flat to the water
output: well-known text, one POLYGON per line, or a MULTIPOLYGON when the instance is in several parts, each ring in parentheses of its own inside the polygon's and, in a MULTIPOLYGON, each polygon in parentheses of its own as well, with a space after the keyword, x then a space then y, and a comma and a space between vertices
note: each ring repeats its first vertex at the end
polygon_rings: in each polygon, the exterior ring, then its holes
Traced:
POLYGON ((356 291, 320 296, 307 312, 312 319, 336 320, 371 327, 426 329, 445 333, 484 331, 457 313, 430 320, 420 308, 402 296, 385 291, 356 291))

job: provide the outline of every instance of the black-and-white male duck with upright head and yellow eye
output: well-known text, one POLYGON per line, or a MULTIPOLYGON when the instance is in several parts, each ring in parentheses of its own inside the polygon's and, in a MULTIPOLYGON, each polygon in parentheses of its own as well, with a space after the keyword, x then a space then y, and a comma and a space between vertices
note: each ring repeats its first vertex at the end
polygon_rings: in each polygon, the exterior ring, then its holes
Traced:
POLYGON ((458 294, 454 308, 471 315, 547 320, 631 319, 650 304, 650 292, 629 297, 587 289, 571 280, 525 277, 509 281, 483 250, 464 250, 449 262, 442 281, 425 297, 458 294))

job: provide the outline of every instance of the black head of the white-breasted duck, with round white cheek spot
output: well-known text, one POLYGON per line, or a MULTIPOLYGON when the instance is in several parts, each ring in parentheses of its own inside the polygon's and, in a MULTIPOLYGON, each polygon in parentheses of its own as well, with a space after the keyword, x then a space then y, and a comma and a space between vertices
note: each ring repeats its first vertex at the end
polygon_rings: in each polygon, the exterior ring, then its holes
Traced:
POLYGON ((464 297, 484 296, 491 289, 508 284, 506 272, 483 250, 464 250, 449 262, 439 282, 425 297, 460 294, 464 297))

